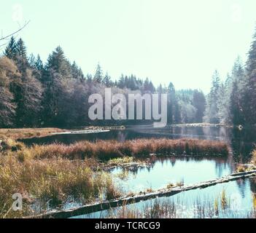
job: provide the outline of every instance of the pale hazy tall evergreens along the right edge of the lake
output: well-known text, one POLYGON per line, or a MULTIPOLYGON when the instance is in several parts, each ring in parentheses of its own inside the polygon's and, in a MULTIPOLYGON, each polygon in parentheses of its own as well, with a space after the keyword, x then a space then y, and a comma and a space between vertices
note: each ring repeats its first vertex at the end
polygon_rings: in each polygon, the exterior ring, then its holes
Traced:
POLYGON ((218 71, 214 72, 204 121, 230 125, 256 124, 256 32, 245 64, 237 58, 225 82, 220 81, 218 71))

